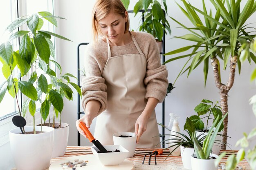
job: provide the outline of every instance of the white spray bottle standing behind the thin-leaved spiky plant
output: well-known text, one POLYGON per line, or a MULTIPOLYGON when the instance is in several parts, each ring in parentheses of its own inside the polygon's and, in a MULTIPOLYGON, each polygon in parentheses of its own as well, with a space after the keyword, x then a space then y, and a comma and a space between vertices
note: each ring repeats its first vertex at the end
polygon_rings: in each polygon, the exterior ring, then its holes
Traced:
MULTIPOLYGON (((180 136, 180 134, 178 134, 177 132, 180 132, 180 128, 179 128, 179 122, 178 119, 180 118, 179 116, 177 116, 176 114, 170 113, 170 123, 168 125, 168 128, 171 130, 171 135, 175 135, 175 136, 180 136)), ((170 139, 177 139, 178 137, 175 136, 170 136, 170 139)), ((168 147, 171 145, 174 145, 176 140, 170 140, 170 144, 168 144, 168 147)), ((179 142, 179 141, 177 141, 179 142)), ((171 148, 169 148, 169 151, 172 152, 171 155, 174 156, 178 156, 180 155, 180 146, 178 148, 176 148, 177 145, 172 146, 171 148), (176 148, 176 149, 175 149, 176 148)))

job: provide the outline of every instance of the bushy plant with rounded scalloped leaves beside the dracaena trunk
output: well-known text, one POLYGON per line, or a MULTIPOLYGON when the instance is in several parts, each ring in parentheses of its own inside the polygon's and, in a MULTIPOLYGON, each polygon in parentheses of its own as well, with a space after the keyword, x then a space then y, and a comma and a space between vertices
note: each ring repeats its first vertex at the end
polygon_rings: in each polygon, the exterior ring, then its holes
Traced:
MULTIPOLYGON (((195 112, 198 115, 192 115, 192 116, 189 117, 189 119, 195 125, 196 130, 198 130, 198 131, 203 131, 203 130, 207 131, 208 128, 209 128, 209 121, 212 120, 212 123, 217 121, 217 123, 218 123, 221 120, 222 112, 221 112, 221 107, 218 106, 218 103, 219 102, 216 101, 216 103, 213 105, 212 101, 203 99, 202 103, 198 104, 195 107, 195 112), (217 119, 217 117, 218 117, 218 119, 217 119), (202 121, 202 119, 204 119, 204 118, 207 119, 206 126, 204 125, 204 122, 202 121)), ((220 129, 218 130, 218 132, 223 130, 223 128, 224 128, 224 125, 222 123, 220 125, 220 129)))

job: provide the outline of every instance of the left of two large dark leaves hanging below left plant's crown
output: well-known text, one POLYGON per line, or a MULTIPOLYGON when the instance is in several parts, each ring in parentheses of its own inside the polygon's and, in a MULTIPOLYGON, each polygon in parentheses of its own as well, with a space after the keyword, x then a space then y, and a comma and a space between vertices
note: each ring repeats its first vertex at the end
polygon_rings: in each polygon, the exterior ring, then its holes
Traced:
POLYGON ((27 63, 30 65, 31 61, 33 60, 32 57, 32 45, 31 40, 28 36, 28 34, 25 34, 25 36, 22 37, 22 40, 20 41, 20 48, 19 48, 19 54, 21 58, 25 58, 27 63))

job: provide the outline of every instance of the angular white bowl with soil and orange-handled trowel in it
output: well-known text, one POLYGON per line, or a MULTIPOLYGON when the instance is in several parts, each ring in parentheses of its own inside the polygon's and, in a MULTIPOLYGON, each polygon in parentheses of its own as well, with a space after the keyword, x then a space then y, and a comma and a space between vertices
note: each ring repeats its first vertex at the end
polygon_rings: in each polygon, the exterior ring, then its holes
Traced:
POLYGON ((96 146, 92 146, 92 153, 99 158, 99 161, 103 166, 110 165, 119 165, 124 161, 124 159, 128 155, 128 150, 126 150, 121 145, 104 145, 106 150, 115 151, 120 150, 120 152, 108 152, 108 153, 98 153, 98 148, 96 146))

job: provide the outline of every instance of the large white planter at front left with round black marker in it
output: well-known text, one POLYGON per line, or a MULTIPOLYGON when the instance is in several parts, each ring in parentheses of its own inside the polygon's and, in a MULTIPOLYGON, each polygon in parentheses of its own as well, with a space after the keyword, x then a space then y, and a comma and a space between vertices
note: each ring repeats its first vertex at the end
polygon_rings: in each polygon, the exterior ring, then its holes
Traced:
MULTIPOLYGON (((10 130, 11 154, 17 170, 45 170, 49 167, 54 129, 42 127, 44 133, 40 134, 20 134, 20 128, 10 130)), ((25 127, 25 132, 33 131, 33 126, 25 127)), ((41 131, 40 126, 36 126, 36 131, 41 131)))

